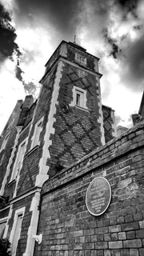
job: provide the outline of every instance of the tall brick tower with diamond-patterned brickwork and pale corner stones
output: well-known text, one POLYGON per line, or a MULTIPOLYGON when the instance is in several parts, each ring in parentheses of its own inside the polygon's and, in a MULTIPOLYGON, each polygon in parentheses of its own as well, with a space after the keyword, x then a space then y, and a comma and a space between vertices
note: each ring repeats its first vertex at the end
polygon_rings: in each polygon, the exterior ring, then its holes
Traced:
POLYGON ((47 165, 53 174, 105 143, 101 76, 98 58, 72 42, 62 41, 46 63, 37 112, 47 109, 47 165))

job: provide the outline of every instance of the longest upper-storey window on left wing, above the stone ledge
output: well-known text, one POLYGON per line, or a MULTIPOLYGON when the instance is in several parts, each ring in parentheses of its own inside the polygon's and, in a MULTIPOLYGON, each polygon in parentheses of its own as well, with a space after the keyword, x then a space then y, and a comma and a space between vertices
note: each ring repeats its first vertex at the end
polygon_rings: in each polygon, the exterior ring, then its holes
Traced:
POLYGON ((11 176, 10 181, 18 177, 19 171, 22 168, 22 162, 23 162, 25 150, 26 150, 26 141, 22 142, 21 145, 18 147, 18 154, 14 163, 13 174, 11 176))

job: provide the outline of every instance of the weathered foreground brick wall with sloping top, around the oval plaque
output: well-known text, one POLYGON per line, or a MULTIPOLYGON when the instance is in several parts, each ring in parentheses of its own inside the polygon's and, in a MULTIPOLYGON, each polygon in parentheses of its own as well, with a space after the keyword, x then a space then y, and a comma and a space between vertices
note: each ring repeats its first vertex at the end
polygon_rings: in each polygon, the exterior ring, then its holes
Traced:
POLYGON ((45 183, 38 234, 41 255, 142 255, 144 239, 144 122, 45 183), (98 176, 112 189, 99 217, 86 209, 86 190, 98 176))

